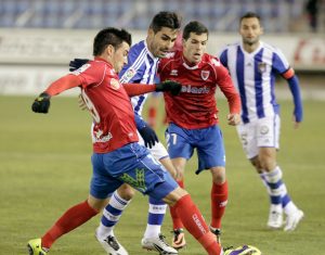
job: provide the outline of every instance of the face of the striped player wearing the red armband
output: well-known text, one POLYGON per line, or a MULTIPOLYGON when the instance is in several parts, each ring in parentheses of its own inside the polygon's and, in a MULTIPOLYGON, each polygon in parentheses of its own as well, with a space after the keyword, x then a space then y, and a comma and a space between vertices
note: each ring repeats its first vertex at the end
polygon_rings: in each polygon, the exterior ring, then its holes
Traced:
POLYGON ((260 40, 260 35, 263 34, 260 22, 257 17, 244 18, 240 22, 239 33, 244 44, 257 44, 260 40))

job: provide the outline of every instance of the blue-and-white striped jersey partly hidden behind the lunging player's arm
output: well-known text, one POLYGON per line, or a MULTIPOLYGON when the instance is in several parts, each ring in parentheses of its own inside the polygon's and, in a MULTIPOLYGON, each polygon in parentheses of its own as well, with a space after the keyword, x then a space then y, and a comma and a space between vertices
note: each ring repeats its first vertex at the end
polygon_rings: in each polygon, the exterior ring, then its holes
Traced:
MULTIPOLYGON (((128 64, 119 73, 121 84, 154 84, 159 59, 147 49, 146 41, 132 46, 128 55, 128 64)), ((134 113, 141 115, 147 94, 131 98, 134 113)))

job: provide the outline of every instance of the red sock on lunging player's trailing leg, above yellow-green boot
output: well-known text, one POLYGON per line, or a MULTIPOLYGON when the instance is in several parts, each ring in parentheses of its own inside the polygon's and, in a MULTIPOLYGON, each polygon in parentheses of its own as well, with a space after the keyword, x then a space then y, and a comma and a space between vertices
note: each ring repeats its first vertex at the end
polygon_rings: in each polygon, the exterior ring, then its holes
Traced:
POLYGON ((76 229, 98 213, 99 212, 89 206, 87 201, 70 207, 42 237, 42 247, 50 248, 62 234, 76 229))

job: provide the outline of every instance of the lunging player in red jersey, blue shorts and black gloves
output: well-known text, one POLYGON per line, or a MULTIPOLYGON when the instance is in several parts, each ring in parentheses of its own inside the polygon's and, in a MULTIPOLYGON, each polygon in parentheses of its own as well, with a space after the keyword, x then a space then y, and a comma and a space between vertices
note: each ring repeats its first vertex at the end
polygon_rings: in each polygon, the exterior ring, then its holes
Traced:
POLYGON ((30 240, 30 255, 48 254, 61 235, 99 214, 107 204, 107 197, 125 182, 173 207, 186 229, 208 254, 223 254, 187 192, 177 184, 145 146, 138 143, 134 112, 129 95, 154 90, 177 93, 181 87, 174 81, 156 86, 122 86, 117 73, 128 63, 130 44, 131 35, 126 30, 101 30, 94 38, 94 61, 51 84, 32 103, 34 112, 48 113, 51 97, 80 87, 94 125, 91 158, 93 175, 89 197, 66 211, 41 239, 30 240))

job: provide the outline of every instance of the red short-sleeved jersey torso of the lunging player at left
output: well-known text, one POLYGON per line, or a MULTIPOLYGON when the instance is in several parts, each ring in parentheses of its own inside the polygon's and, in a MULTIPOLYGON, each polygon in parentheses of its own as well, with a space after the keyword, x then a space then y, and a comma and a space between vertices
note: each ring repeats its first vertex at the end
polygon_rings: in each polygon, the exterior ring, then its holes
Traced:
POLYGON ((107 153, 138 142, 130 98, 113 66, 96 58, 74 75, 80 78, 81 94, 93 117, 94 152, 107 153))

